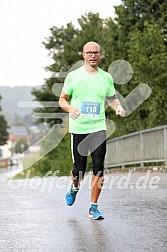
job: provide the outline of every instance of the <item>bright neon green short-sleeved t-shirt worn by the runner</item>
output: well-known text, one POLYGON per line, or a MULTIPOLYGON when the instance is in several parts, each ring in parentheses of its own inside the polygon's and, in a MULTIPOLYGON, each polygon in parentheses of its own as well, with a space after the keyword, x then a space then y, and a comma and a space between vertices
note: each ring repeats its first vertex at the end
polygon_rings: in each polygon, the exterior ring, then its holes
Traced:
POLYGON ((82 66, 67 75, 63 91, 71 96, 71 106, 81 111, 76 119, 69 116, 70 133, 87 134, 106 130, 105 98, 115 95, 109 73, 98 68, 96 74, 89 74, 82 66))

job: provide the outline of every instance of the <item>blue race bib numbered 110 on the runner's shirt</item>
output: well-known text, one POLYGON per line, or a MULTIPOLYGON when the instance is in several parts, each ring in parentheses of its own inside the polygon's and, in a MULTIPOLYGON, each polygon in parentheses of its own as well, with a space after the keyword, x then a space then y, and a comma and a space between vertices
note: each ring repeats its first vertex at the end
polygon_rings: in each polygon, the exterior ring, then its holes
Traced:
POLYGON ((99 116, 100 102, 82 102, 81 113, 87 116, 99 116))

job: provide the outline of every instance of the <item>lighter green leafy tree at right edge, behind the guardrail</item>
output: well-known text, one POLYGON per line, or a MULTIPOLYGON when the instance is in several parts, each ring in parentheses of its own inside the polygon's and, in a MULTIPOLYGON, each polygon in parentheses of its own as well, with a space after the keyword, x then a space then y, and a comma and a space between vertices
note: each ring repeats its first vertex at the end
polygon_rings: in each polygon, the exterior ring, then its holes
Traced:
POLYGON ((129 41, 129 61, 135 83, 148 83, 152 94, 139 109, 142 128, 165 124, 167 100, 167 50, 162 29, 145 22, 143 32, 134 30, 129 41), (144 118, 142 116, 145 115, 144 118))

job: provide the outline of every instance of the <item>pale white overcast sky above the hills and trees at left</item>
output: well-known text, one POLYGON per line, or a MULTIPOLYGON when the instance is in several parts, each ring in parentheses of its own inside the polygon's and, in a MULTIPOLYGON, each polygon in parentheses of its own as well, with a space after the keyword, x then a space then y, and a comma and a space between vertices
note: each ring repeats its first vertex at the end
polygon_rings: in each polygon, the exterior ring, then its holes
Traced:
POLYGON ((0 86, 41 85, 49 64, 42 41, 49 29, 77 24, 81 15, 93 12, 114 17, 120 0, 1 0, 0 86))

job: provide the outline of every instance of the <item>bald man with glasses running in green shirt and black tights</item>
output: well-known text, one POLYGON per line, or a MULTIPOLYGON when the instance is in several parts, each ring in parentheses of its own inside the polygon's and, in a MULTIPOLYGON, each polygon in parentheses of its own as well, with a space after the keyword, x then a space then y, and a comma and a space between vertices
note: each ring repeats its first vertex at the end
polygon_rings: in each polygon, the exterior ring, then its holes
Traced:
POLYGON ((124 116, 125 110, 116 96, 111 75, 98 67, 99 44, 93 41, 86 43, 82 55, 84 65, 67 75, 59 99, 60 107, 69 113, 73 157, 72 185, 65 199, 68 206, 75 202, 90 151, 93 175, 89 217, 98 220, 104 218, 98 210, 97 201, 103 185, 106 154, 106 98, 111 108, 116 111, 116 115, 124 116))

